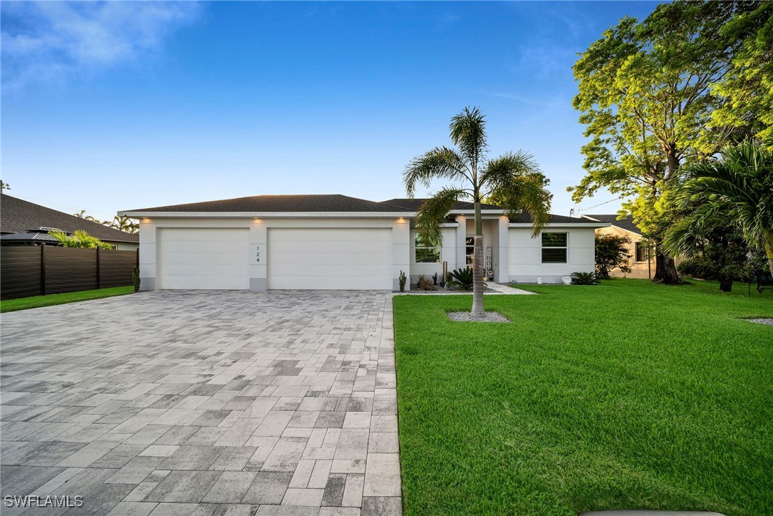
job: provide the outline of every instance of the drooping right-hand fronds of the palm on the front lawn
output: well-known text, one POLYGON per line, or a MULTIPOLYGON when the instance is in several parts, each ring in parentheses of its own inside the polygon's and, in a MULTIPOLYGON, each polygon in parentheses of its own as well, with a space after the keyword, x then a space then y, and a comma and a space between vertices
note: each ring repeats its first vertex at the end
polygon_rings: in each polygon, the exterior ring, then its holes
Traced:
POLYGON ((540 172, 533 156, 509 152, 490 160, 481 174, 481 182, 499 200, 510 218, 526 210, 532 220, 532 236, 540 234, 550 220, 550 181, 540 172))

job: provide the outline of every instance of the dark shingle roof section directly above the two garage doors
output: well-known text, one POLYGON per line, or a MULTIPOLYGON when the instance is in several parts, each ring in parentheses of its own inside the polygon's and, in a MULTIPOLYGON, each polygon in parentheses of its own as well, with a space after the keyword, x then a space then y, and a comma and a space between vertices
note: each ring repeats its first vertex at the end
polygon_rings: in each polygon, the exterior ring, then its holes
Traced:
POLYGON ((356 199, 345 195, 259 195, 252 197, 239 197, 237 199, 210 200, 202 203, 175 204, 172 206, 159 206, 142 208, 140 210, 126 211, 169 211, 169 212, 395 212, 410 211, 401 207, 390 206, 383 203, 374 203, 372 200, 356 199))

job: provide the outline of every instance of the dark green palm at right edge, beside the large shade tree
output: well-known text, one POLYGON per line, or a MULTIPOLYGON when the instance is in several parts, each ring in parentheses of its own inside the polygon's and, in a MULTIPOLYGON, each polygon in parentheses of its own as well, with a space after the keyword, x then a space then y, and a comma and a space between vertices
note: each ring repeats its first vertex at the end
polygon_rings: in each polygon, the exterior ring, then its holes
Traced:
POLYGON ((695 208, 666 232, 672 255, 693 255, 717 224, 735 226, 750 247, 764 249, 773 273, 773 147, 746 141, 721 161, 691 166, 676 206, 695 208))

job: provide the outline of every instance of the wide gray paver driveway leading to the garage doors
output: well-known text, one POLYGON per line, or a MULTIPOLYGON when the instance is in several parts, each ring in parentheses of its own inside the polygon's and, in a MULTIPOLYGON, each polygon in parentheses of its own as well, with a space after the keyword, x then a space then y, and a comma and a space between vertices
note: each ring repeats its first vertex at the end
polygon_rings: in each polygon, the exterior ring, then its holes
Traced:
POLYGON ((392 321, 389 292, 352 291, 7 313, 2 495, 83 497, 70 514, 399 514, 392 321))

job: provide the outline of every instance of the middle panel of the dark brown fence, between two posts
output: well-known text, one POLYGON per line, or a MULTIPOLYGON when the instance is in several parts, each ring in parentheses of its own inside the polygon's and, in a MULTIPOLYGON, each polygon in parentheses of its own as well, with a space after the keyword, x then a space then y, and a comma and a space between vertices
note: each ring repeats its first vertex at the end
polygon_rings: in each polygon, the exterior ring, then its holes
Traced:
POLYGON ((46 294, 96 288, 96 249, 46 247, 46 294))

